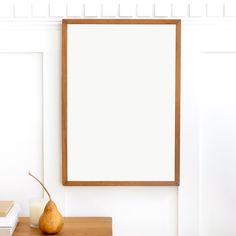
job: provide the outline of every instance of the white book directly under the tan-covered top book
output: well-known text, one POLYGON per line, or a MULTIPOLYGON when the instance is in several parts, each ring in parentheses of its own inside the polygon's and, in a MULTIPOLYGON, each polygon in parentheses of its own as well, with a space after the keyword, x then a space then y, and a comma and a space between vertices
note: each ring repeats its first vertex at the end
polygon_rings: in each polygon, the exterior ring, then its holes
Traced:
POLYGON ((13 228, 18 220, 20 207, 17 203, 11 208, 7 216, 0 217, 0 228, 13 228))

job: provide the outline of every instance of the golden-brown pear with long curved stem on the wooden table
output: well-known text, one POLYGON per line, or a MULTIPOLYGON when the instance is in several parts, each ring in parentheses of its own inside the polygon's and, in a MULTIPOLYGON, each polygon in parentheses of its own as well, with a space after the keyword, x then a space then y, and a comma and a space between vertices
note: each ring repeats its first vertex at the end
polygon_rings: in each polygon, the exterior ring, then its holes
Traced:
POLYGON ((30 172, 29 175, 40 183, 40 185, 44 188, 49 197, 49 201, 47 202, 44 211, 39 218, 39 229, 44 234, 59 233, 64 225, 64 219, 61 213, 58 211, 56 204, 52 201, 51 195, 45 188, 43 183, 35 176, 33 176, 30 172))

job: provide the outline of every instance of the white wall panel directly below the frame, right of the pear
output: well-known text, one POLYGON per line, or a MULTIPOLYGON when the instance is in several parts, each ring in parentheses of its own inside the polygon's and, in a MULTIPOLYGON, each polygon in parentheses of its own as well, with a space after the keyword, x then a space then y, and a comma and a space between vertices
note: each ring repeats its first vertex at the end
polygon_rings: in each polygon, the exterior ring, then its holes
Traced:
POLYGON ((72 216, 112 216, 116 236, 176 236, 177 187, 68 187, 72 216))

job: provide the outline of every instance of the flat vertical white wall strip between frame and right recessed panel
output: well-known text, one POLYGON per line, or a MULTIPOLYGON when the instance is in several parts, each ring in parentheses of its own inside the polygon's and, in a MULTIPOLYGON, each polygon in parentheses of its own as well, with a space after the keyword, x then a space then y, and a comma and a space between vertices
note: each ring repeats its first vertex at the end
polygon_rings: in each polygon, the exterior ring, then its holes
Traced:
POLYGON ((198 236, 200 108, 199 39, 202 27, 182 26, 181 164, 178 188, 178 235, 198 236), (194 73, 193 73, 194 71, 194 73))

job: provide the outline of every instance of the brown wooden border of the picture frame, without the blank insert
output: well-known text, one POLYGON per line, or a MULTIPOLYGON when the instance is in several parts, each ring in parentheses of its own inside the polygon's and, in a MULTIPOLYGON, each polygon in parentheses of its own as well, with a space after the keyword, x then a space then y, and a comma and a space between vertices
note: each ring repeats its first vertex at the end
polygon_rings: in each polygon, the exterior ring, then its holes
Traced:
POLYGON ((63 19, 62 20, 62 184, 64 186, 179 186, 180 184, 180 76, 181 20, 63 19), (68 24, 175 24, 175 180, 174 181, 69 181, 67 172, 67 25, 68 24))

